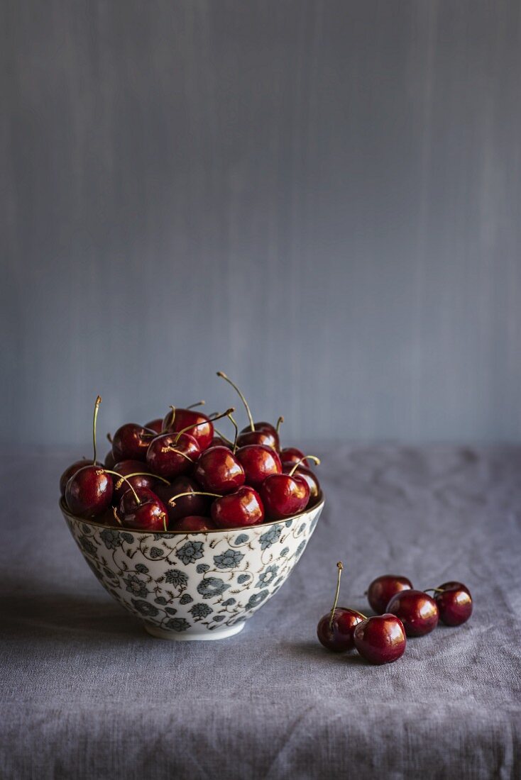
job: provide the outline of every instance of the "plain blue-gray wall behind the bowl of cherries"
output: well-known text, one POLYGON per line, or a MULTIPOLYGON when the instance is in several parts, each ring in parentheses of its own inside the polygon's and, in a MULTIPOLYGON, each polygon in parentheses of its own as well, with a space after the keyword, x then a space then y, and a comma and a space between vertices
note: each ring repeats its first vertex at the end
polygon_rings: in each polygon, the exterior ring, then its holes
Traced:
MULTIPOLYGON (((2 436, 521 433, 521 4, 2 0, 2 436)), ((84 446, 83 446, 84 443, 84 446)))

